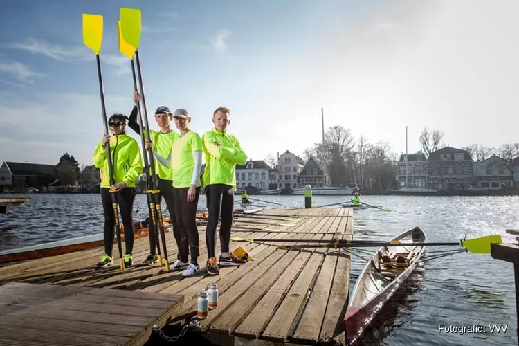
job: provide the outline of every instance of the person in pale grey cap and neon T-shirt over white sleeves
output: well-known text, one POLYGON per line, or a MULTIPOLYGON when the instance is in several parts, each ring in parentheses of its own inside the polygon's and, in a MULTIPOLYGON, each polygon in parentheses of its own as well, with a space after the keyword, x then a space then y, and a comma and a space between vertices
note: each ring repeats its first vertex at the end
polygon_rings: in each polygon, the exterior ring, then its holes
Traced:
MULTIPOLYGON (((174 120, 176 128, 180 131, 180 137, 174 140, 167 158, 157 152, 154 152, 154 156, 162 165, 172 167, 173 170, 175 215, 182 242, 180 259, 171 264, 170 268, 172 270, 185 268, 182 276, 188 277, 200 272, 197 261, 199 256, 197 206, 201 185, 202 140, 197 132, 189 128, 191 116, 187 109, 177 109, 174 120), (189 255, 191 255, 190 262, 188 262, 189 255)), ((150 147, 153 147, 153 143, 147 142, 146 148, 150 147)))

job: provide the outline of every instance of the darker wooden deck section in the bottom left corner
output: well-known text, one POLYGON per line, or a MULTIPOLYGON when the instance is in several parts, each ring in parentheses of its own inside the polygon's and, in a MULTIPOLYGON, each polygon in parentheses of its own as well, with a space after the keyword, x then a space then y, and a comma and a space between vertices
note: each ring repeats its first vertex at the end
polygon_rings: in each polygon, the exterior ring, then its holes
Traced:
POLYGON ((183 302, 181 295, 154 296, 8 283, 0 286, 0 345, 143 345, 183 302))

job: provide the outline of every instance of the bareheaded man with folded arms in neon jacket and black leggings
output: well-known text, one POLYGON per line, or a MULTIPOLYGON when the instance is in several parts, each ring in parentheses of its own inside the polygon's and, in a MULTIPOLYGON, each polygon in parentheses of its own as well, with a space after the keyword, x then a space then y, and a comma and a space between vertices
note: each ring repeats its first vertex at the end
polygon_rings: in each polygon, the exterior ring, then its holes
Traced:
POLYGON ((230 228, 233 225, 234 192, 236 190, 236 165, 245 165, 247 155, 235 136, 227 133, 230 125, 230 109, 217 108, 212 113, 215 127, 202 136, 203 154, 206 156, 206 170, 203 183, 206 186, 209 220, 206 228, 209 275, 218 275, 219 266, 239 266, 246 261, 230 252, 230 228), (219 260, 215 255, 217 226, 220 224, 219 260))

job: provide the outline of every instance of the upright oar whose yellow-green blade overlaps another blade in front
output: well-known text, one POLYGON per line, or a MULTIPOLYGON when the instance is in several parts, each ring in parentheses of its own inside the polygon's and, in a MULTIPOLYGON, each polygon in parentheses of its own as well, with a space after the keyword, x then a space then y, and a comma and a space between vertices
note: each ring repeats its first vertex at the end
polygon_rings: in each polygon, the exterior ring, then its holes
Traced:
MULTIPOLYGON (((124 41, 127 42, 127 44, 129 44, 130 46, 132 46, 135 50, 135 60, 137 63, 140 97, 142 98, 143 109, 144 109, 145 133, 141 134, 141 136, 145 135, 145 140, 149 140, 149 124, 148 124, 148 114, 147 114, 147 109, 146 109, 146 99, 144 96, 143 73, 140 69, 140 59, 139 59, 139 52, 138 52, 138 46, 140 43, 140 29, 141 29, 140 10, 135 9, 135 8, 121 8, 120 9, 120 27, 121 27, 122 39, 124 39, 124 41)), ((156 176, 156 172, 155 172, 155 158, 153 156, 153 150, 151 148, 148 149, 147 152, 148 152, 148 156, 149 156, 149 167, 152 169, 152 179, 151 179, 152 180, 152 189, 150 189, 148 191, 152 192, 153 197, 154 197, 154 202, 155 202, 154 206, 155 206, 156 215, 157 215, 158 230, 161 233, 161 240, 162 240, 162 246, 163 246, 163 251, 164 251, 165 269, 166 269, 166 271, 170 271, 170 263, 167 260, 166 236, 164 233, 164 221, 162 218, 161 199, 158 196, 158 194, 160 194, 161 191, 158 190, 157 176, 156 176)), ((147 176, 147 178, 149 178, 149 176, 147 176)), ((158 239, 157 239, 157 242, 158 242, 158 239)))

